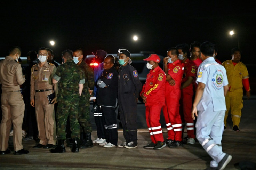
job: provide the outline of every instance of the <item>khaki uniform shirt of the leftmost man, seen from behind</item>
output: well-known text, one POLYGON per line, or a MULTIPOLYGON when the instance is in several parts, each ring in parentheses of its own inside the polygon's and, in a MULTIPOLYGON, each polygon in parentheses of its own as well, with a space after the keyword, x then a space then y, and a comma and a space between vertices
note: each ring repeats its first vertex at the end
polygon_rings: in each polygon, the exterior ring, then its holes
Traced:
POLYGON ((19 85, 25 82, 22 76, 21 64, 17 63, 12 57, 6 56, 0 61, 0 83, 2 92, 19 91, 19 85))

